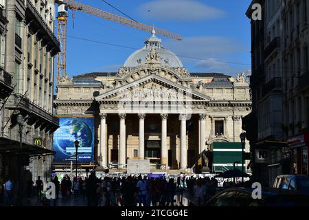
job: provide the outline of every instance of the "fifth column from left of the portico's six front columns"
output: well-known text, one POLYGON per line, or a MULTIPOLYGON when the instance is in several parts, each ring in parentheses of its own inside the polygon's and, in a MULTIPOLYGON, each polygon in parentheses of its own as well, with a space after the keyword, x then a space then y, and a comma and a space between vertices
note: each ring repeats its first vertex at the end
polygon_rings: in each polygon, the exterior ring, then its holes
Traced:
POLYGON ((181 120, 181 169, 187 168, 187 132, 186 132, 186 120, 187 115, 179 115, 179 120, 181 120))

